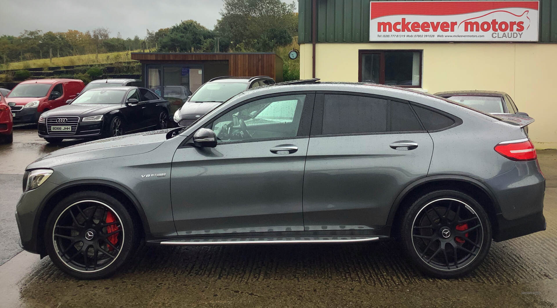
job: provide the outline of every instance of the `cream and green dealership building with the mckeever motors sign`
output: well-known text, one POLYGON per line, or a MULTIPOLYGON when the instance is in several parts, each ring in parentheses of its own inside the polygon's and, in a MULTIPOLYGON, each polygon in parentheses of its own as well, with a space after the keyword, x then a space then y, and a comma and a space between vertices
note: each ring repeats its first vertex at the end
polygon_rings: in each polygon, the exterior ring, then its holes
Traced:
POLYGON ((300 0, 300 79, 504 91, 557 148, 557 0, 300 0))

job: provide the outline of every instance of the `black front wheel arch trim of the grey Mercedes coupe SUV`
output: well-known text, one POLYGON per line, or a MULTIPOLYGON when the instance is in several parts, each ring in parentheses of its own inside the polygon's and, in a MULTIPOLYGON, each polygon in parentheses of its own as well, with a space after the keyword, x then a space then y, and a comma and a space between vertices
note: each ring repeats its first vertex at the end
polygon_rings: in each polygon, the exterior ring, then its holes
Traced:
POLYGON ((74 182, 69 182, 58 186, 56 189, 52 190, 45 199, 41 202, 38 207, 38 221, 35 223, 33 233, 36 234, 37 238, 37 251, 40 253, 41 257, 46 255, 45 242, 43 239, 44 229, 46 227, 46 221, 48 219, 48 214, 67 195, 85 191, 85 190, 96 190, 100 192, 109 193, 120 202, 124 204, 126 208, 130 210, 130 214, 133 218, 139 218, 141 226, 138 228, 141 231, 141 237, 145 237, 150 234, 149 223, 147 221, 143 207, 139 203, 138 199, 126 189, 123 185, 118 183, 110 182, 108 180, 77 180, 74 182))

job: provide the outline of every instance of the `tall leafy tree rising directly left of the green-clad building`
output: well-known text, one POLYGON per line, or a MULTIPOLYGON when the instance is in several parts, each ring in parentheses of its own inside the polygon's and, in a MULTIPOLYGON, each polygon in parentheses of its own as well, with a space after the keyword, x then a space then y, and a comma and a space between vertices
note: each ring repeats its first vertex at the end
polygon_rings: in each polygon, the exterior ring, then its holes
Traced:
POLYGON ((296 35, 295 8, 281 0, 224 0, 216 34, 246 51, 272 51, 296 35))

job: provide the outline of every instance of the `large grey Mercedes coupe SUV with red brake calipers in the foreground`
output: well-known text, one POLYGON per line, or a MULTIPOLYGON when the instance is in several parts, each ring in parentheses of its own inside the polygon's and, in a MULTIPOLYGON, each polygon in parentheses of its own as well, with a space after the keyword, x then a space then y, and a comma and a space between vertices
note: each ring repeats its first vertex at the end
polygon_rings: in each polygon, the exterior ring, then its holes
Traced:
POLYGON ((71 146, 27 166, 21 243, 78 278, 148 245, 373 242, 396 236, 437 277, 465 275, 492 239, 545 229, 545 179, 524 132, 383 85, 245 90, 188 128, 71 146))

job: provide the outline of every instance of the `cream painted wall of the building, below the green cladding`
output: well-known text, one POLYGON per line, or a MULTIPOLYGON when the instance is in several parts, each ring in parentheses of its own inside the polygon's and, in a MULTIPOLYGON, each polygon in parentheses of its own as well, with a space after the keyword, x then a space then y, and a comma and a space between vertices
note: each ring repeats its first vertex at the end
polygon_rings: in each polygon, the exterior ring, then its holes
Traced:
MULTIPOLYGON (((540 43, 317 43, 316 77, 358 81, 358 50, 423 50, 422 86, 507 92, 536 121, 529 134, 538 149, 557 148, 557 44, 540 43)), ((311 44, 300 45, 300 79, 309 79, 311 44)))

